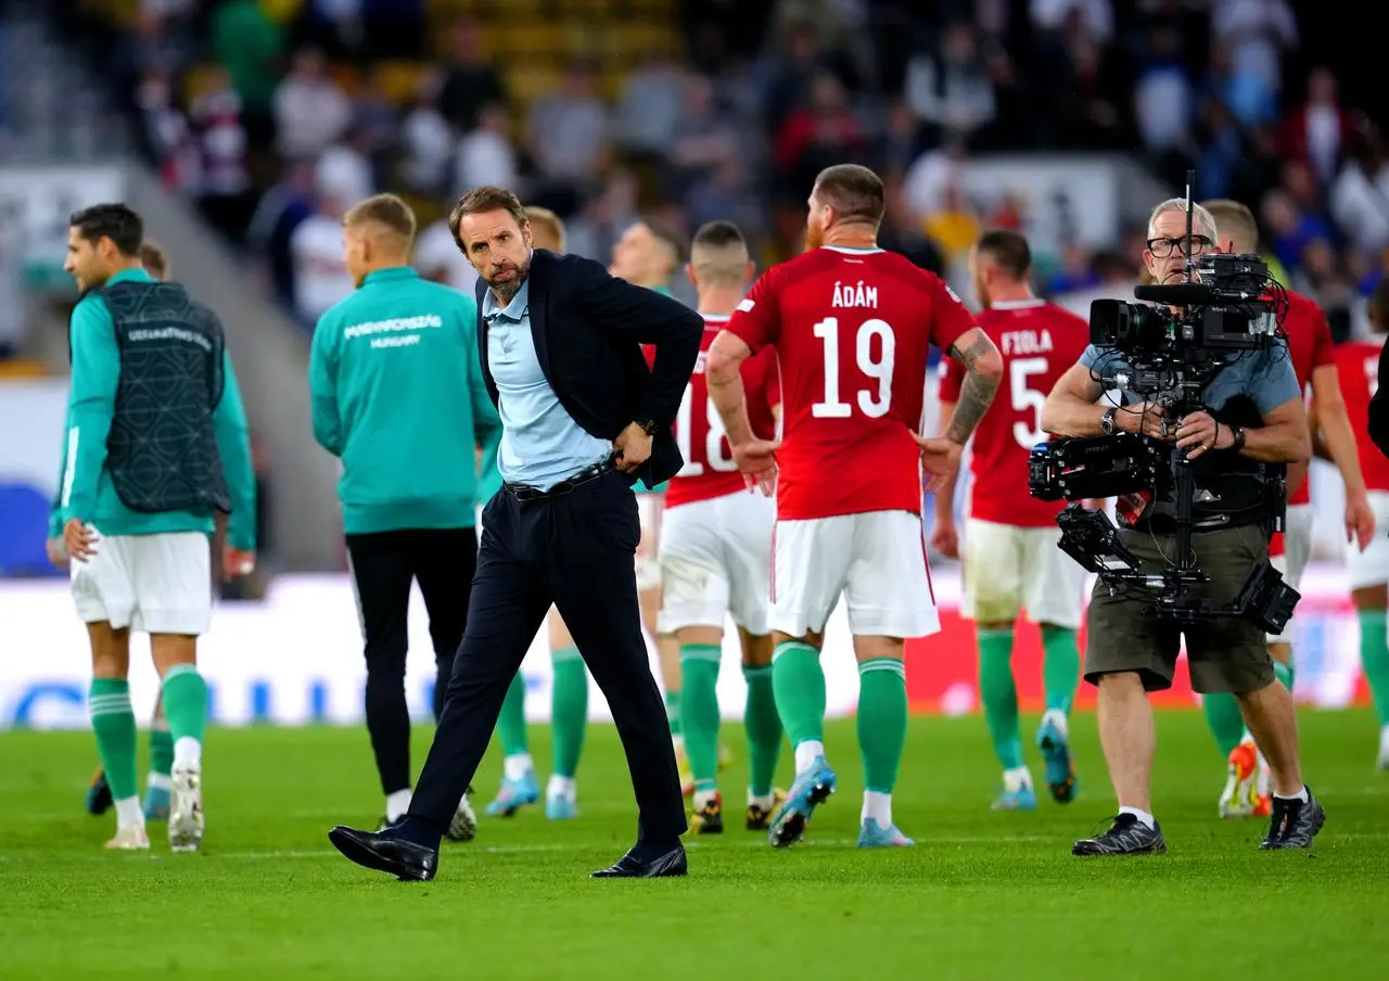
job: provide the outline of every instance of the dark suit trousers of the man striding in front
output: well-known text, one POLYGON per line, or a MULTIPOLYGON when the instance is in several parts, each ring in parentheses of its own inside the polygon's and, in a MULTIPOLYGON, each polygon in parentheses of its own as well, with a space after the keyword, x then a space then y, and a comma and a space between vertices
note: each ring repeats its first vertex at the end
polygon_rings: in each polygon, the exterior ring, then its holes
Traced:
POLYGON ((554 603, 613 709, 636 792, 638 842, 674 845, 683 834, 669 725, 642 636, 633 567, 640 535, 629 478, 617 471, 539 500, 517 500, 503 488, 488 503, 468 625, 413 817, 447 827, 554 603))

